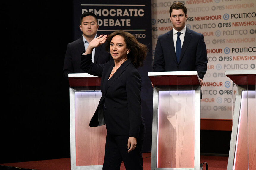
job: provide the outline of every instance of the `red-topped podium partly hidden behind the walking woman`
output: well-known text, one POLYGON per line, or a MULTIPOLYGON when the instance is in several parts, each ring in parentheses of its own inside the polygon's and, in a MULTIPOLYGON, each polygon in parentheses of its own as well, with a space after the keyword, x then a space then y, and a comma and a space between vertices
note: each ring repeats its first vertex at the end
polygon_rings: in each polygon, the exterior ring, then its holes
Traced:
POLYGON ((99 100, 101 77, 69 74, 71 170, 102 170, 107 130, 89 127, 99 100))

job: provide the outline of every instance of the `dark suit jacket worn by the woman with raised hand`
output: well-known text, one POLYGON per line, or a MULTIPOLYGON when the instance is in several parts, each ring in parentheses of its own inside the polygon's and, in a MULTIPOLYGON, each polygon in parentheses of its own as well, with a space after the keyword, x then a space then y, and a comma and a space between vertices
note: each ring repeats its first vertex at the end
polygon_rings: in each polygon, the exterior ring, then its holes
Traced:
POLYGON ((91 54, 82 55, 81 69, 101 77, 102 97, 90 121, 90 127, 106 124, 110 134, 143 138, 145 124, 142 118, 141 77, 138 70, 128 59, 108 80, 114 60, 106 64, 95 64, 91 58, 91 54))

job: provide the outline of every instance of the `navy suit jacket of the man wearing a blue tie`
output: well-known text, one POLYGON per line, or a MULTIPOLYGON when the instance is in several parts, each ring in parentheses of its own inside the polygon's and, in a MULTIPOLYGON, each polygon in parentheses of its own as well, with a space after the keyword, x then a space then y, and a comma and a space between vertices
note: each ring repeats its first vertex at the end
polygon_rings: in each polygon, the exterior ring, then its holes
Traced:
POLYGON ((173 30, 160 35, 157 39, 154 72, 197 71, 199 78, 203 79, 207 70, 207 62, 206 45, 200 33, 186 29, 179 62, 173 43, 173 30))

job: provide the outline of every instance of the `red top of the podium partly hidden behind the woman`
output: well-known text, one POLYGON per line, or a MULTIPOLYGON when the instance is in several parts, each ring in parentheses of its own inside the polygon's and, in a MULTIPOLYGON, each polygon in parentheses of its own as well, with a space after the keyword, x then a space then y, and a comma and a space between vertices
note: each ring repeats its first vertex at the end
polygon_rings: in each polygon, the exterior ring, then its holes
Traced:
POLYGON ((88 73, 68 74, 69 86, 72 87, 90 87, 100 86, 101 77, 93 76, 88 73))

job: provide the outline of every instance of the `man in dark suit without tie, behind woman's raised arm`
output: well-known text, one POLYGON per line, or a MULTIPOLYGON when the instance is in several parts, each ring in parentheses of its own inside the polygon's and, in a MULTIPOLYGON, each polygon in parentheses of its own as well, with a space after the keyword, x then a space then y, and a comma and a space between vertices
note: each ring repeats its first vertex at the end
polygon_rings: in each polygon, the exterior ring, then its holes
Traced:
MULTIPOLYGON (((92 12, 84 12, 80 18, 80 29, 83 36, 78 40, 67 45, 66 56, 64 60, 63 75, 68 79, 69 73, 84 73, 80 68, 81 54, 86 50, 91 40, 96 38, 99 28, 98 19, 92 12)), ((112 59, 111 55, 105 51, 105 44, 94 49, 92 61, 94 63, 103 64, 112 59)))

